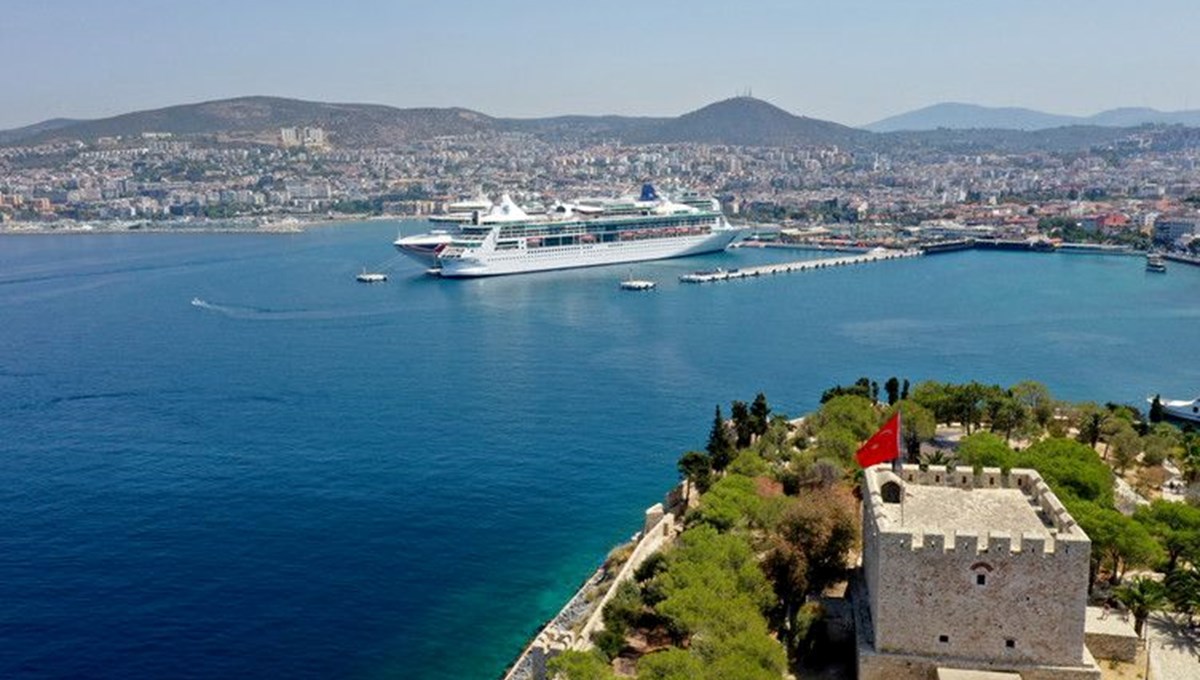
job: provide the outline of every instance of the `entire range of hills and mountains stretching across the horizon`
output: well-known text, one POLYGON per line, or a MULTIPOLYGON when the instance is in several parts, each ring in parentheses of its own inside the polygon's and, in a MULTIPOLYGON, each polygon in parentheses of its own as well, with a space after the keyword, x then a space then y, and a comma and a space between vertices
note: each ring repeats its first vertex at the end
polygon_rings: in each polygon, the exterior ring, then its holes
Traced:
POLYGON ((101 137, 136 137, 149 132, 272 144, 278 140, 281 127, 319 126, 325 128, 335 145, 346 148, 390 146, 443 136, 524 132, 553 140, 619 140, 630 144, 1054 150, 1108 144, 1124 134, 1121 127, 1146 122, 1200 126, 1200 112, 1114 109, 1094 116, 1073 118, 1019 108, 935 104, 862 130, 794 115, 752 97, 724 100, 676 118, 569 115, 506 119, 464 108, 401 109, 383 104, 252 96, 96 120, 54 119, 0 131, 0 144, 71 139, 94 142, 101 137), (1039 134, 1032 134, 1033 131, 1039 134))

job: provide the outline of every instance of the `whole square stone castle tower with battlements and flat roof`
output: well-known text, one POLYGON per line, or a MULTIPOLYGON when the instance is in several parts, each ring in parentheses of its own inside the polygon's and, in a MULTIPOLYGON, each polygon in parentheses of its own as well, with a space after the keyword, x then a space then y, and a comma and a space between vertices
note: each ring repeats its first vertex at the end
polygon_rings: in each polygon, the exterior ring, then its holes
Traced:
POLYGON ((1091 541, 1036 471, 876 465, 863 497, 860 680, 1099 679, 1091 541))

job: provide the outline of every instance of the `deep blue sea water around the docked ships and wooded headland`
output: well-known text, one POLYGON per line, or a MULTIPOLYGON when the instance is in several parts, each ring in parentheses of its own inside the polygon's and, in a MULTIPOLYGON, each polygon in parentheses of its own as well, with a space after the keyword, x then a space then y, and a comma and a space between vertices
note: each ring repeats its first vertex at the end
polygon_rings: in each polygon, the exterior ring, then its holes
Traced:
POLYGON ((494 679, 716 404, 799 415, 860 375, 1200 393, 1200 267, 677 282, 833 254, 739 248, 440 281, 391 251, 425 227, 0 237, 0 676, 494 679))

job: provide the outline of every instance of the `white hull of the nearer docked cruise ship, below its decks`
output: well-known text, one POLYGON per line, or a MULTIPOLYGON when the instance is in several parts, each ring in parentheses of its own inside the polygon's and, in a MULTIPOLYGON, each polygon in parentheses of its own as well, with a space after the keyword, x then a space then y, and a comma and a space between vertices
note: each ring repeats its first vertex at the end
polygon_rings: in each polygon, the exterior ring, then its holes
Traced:
POLYGON ((719 229, 708 234, 672 239, 494 251, 464 258, 440 258, 438 264, 439 273, 448 278, 629 264, 720 252, 739 234, 738 229, 719 229))

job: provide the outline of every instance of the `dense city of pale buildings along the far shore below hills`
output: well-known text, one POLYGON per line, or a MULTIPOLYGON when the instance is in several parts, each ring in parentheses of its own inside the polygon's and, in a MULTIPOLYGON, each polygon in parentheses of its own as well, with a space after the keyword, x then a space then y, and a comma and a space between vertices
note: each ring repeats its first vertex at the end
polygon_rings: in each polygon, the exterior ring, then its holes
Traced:
MULTIPOLYGON (((1052 235, 1145 247, 1196 230, 1200 148, 1129 128, 1084 151, 562 140, 521 132, 341 146, 320 127, 256 142, 143 132, 0 148, 5 230, 259 228, 420 217, 512 193, 522 204, 629 193, 716 195, 748 223, 886 236, 1052 235), (1158 230, 1154 227, 1158 224, 1158 230), (1040 225, 1040 229, 1039 229, 1040 225)), ((1182 241, 1181 241, 1182 239, 1182 241)))

